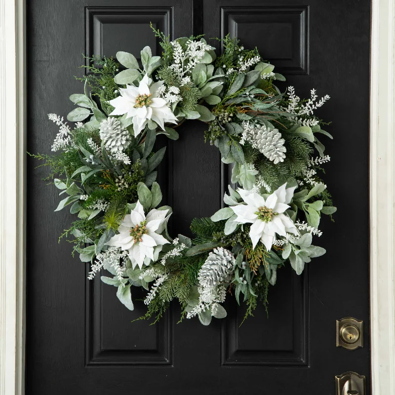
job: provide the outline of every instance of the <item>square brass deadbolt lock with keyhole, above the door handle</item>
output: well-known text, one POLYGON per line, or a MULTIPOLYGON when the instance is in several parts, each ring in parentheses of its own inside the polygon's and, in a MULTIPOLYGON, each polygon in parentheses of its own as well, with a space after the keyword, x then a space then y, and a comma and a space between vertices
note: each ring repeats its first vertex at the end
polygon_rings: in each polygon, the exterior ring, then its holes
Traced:
POLYGON ((346 350, 363 347, 363 321, 353 317, 345 317, 336 321, 336 346, 346 350))

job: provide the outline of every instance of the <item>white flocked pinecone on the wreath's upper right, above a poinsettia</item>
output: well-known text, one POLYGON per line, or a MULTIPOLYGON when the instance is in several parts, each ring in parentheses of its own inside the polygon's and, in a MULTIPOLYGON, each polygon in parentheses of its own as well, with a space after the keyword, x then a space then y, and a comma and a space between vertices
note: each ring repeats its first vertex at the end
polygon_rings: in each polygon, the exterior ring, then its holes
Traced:
POLYGON ((275 164, 285 159, 285 140, 281 138, 278 129, 270 130, 265 125, 260 125, 254 130, 254 140, 258 150, 275 164))

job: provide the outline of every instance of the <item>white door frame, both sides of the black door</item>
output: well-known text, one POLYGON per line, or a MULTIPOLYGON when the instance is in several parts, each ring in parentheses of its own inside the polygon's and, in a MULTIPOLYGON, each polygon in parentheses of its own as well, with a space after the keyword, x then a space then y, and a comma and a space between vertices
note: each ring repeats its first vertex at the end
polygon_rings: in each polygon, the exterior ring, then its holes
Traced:
MULTIPOLYGON (((394 2, 373 0, 372 4, 370 327, 373 395, 395 394, 394 2)), ((25 0, 0 0, 0 395, 25 394, 25 11, 25 0)))

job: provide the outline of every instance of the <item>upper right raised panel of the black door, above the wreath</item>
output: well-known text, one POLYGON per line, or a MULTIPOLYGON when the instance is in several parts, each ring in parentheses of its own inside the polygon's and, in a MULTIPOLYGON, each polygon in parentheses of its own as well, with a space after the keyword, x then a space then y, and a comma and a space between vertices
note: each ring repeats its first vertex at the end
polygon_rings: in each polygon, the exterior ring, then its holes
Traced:
POLYGON ((257 46, 279 73, 309 73, 308 6, 221 7, 222 38, 228 33, 246 47, 257 46))

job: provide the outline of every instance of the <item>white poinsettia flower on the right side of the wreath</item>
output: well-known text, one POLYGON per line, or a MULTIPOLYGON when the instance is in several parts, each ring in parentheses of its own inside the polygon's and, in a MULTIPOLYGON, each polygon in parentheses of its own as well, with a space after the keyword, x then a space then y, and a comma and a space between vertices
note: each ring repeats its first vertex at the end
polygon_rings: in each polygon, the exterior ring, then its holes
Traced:
POLYGON ((255 248, 259 240, 265 245, 268 251, 271 250, 276 234, 286 236, 286 233, 298 235, 298 230, 292 220, 284 214, 289 208, 288 203, 293 197, 296 187, 279 187, 273 194, 264 199, 256 192, 237 189, 237 192, 246 204, 231 206, 237 214, 235 222, 239 224, 251 223, 249 236, 252 247, 255 248))

